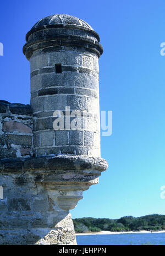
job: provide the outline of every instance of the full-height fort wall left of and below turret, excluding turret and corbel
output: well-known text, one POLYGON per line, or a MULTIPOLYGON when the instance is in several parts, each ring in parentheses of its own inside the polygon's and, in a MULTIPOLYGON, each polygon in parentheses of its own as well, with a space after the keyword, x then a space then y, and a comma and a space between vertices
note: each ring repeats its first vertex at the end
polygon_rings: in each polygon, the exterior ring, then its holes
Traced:
POLYGON ((0 244, 76 244, 69 211, 54 201, 59 192, 40 184, 36 168, 46 160, 28 162, 35 161, 32 130, 30 105, 0 101, 0 244))

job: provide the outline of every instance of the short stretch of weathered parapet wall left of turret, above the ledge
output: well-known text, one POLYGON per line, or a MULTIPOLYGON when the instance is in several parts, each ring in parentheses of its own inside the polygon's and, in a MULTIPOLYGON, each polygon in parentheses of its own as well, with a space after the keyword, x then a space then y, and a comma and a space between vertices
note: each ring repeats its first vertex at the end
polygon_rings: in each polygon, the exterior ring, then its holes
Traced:
POLYGON ((0 101, 0 159, 31 157, 33 124, 30 105, 0 101))

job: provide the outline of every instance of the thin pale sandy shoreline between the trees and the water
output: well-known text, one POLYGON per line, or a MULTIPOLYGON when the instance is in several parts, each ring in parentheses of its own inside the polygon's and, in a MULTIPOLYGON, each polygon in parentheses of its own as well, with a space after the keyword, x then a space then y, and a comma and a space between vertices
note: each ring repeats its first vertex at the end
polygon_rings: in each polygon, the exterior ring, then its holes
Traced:
POLYGON ((76 233, 76 236, 86 236, 86 235, 121 235, 121 234, 144 234, 144 233, 165 233, 162 231, 124 231, 124 232, 112 232, 112 231, 100 231, 100 232, 86 232, 86 233, 76 233))

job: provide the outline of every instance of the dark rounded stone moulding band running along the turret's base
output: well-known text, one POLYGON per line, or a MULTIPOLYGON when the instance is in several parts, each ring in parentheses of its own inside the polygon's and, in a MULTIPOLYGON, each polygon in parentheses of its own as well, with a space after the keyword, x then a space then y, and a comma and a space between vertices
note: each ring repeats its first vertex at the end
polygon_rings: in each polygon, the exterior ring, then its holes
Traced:
POLYGON ((96 170, 106 171, 108 163, 100 157, 89 156, 42 156, 26 159, 1 159, 0 172, 23 172, 27 170, 96 170))

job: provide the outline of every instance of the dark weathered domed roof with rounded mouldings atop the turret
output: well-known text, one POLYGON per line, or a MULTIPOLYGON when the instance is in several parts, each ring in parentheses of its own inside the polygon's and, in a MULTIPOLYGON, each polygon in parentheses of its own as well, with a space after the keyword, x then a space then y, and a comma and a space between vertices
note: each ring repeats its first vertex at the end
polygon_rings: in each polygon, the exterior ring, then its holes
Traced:
POLYGON ((84 20, 68 14, 54 14, 42 18, 26 34, 23 52, 30 59, 32 52, 48 47, 86 48, 100 57, 103 52, 100 37, 84 20))

